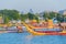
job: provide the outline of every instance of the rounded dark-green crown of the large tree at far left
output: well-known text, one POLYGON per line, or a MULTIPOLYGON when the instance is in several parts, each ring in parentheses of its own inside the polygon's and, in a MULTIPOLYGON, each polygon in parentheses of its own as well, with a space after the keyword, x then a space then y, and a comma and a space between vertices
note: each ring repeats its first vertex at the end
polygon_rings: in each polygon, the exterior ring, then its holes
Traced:
POLYGON ((19 14, 19 11, 16 10, 0 10, 0 13, 3 14, 3 15, 7 15, 9 16, 10 20, 19 20, 20 19, 20 14, 19 14))

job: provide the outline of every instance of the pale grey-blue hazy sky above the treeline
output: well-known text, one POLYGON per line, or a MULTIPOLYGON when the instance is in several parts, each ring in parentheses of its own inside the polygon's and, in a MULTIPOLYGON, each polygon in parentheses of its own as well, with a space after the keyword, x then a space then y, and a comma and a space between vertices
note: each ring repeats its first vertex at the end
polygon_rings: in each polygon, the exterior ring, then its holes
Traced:
POLYGON ((0 10, 14 9, 23 12, 59 11, 66 9, 66 0, 0 0, 0 10))

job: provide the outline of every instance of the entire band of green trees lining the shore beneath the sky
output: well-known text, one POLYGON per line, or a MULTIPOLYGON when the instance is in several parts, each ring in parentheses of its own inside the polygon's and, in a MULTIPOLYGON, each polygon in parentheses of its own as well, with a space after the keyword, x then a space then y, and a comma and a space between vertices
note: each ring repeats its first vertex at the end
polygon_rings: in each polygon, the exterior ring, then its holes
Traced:
MULTIPOLYGON (((11 20, 21 20, 21 21, 25 21, 26 19, 29 20, 36 20, 38 22, 38 13, 30 13, 28 12, 26 14, 20 14, 20 12, 18 10, 0 10, 0 16, 3 18, 4 23, 8 23, 11 20)), ((66 15, 56 13, 56 12, 44 12, 43 13, 43 18, 45 21, 47 21, 48 19, 56 19, 58 22, 64 22, 66 21, 66 15)))

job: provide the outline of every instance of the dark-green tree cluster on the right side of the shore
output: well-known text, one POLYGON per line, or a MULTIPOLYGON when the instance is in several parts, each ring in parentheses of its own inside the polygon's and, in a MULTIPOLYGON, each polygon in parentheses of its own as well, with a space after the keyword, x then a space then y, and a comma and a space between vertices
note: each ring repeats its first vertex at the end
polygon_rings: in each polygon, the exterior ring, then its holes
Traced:
MULTIPOLYGON (((58 22, 64 22, 64 18, 63 14, 56 13, 56 12, 44 12, 43 18, 45 21, 47 21, 48 19, 56 19, 58 22)), ((66 19, 66 18, 65 18, 66 19)))

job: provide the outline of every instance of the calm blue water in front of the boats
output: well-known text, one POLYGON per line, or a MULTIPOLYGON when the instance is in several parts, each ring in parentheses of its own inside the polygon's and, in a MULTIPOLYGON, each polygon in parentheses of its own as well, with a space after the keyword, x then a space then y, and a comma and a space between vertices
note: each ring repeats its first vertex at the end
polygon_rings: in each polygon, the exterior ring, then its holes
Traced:
POLYGON ((1 33, 0 44, 66 44, 66 36, 33 36, 30 33, 1 33))

